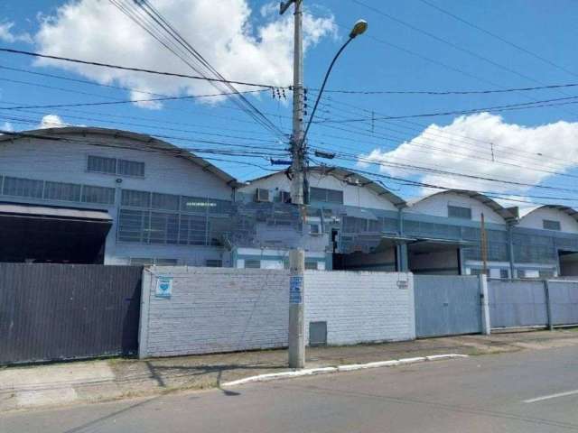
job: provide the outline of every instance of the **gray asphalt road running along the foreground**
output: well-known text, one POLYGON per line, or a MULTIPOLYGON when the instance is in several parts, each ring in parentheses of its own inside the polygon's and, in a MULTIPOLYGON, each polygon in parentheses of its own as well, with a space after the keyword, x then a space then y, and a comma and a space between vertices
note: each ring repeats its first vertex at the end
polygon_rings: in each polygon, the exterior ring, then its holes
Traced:
POLYGON ((578 348, 0 415, 2 433, 477 431, 578 431, 578 348))

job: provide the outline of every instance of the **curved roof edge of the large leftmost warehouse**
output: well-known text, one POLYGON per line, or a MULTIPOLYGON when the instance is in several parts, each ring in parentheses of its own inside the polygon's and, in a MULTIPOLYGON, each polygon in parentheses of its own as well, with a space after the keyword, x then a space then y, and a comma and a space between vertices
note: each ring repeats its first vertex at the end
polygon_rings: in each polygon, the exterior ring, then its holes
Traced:
MULTIPOLYGON (((174 144, 164 142, 158 138, 154 138, 151 135, 131 133, 129 131, 122 131, 119 129, 108 129, 108 128, 97 128, 97 127, 86 127, 86 126, 66 126, 62 128, 47 128, 47 129, 36 129, 31 131, 21 131, 9 134, 0 135, 0 142, 18 140, 23 138, 37 138, 44 140, 56 140, 56 141, 66 141, 66 137, 62 135, 106 135, 114 138, 126 138, 132 142, 140 142, 135 146, 131 143, 125 143, 122 146, 118 143, 109 143, 109 147, 122 147, 133 148, 137 151, 145 152, 163 152, 170 154, 171 156, 177 158, 183 158, 185 160, 191 161, 196 165, 199 165, 202 170, 209 171, 210 173, 217 176, 220 180, 223 180, 231 187, 237 187, 238 181, 231 177, 228 173, 219 168, 215 167, 208 161, 203 160, 194 153, 181 149, 174 144)), ((67 143, 74 143, 73 141, 67 143)), ((90 143, 88 143, 90 144, 90 143)))

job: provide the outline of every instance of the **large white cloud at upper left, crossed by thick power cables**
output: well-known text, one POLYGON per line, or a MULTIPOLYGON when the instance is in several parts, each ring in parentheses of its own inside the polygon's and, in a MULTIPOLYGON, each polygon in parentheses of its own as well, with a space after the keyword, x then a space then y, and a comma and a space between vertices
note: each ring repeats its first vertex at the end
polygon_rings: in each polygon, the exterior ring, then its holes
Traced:
MULTIPOLYGON (((265 7, 261 11, 265 14, 262 17, 265 23, 254 27, 247 0, 157 0, 154 6, 224 77, 275 86, 291 84, 293 14, 279 17, 273 14, 272 7, 265 7)), ((314 18, 305 14, 304 47, 310 48, 323 37, 335 35, 336 28, 332 16, 314 18)), ((34 41, 39 51, 55 56, 197 75, 104 0, 70 0, 55 14, 42 16, 34 41)), ((74 70, 99 83, 116 81, 126 87, 166 95, 216 91, 200 80, 165 78, 55 60, 38 60, 37 63, 74 70)), ((131 97, 143 99, 146 96, 133 92, 131 97)), ((160 107, 158 103, 140 106, 160 107)))

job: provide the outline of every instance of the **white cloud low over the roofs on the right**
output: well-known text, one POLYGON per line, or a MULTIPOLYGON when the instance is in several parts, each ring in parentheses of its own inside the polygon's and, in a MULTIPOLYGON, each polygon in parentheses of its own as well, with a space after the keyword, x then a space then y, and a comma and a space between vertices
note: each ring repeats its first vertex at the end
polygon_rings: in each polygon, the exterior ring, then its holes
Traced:
MULTIPOLYGON (((501 116, 489 113, 462 115, 447 126, 429 125, 422 134, 402 143, 393 151, 375 149, 360 155, 360 158, 537 185, 554 176, 547 171, 564 172, 578 165, 578 123, 560 121, 527 127, 508 124, 501 116), (491 160, 489 143, 494 144, 496 162, 491 160)), ((359 164, 364 162, 359 161, 359 164)), ((421 170, 400 170, 384 166, 380 167, 380 170, 405 178, 418 176, 420 181, 430 185, 495 191, 503 193, 504 197, 517 200, 527 200, 514 195, 523 195, 531 189, 489 180, 424 173, 421 170)), ((434 189, 422 189, 421 193, 425 195, 433 191, 434 189)), ((520 205, 513 200, 504 200, 504 203, 508 206, 520 205)))

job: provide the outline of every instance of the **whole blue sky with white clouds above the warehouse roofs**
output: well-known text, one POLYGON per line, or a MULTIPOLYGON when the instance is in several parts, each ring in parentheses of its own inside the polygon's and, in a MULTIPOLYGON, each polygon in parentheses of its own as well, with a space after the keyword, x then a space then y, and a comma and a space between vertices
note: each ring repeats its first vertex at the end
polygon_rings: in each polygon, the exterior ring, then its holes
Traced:
MULTIPOLYGON (((6 0, 0 47, 185 75, 196 75, 191 66, 202 69, 190 57, 185 64, 114 5, 124 2, 6 0)), ((223 77, 277 87, 256 92, 262 88, 236 85, 252 91, 244 97, 266 124, 240 109, 236 97, 206 97, 228 90, 205 80, 0 52, 0 129, 126 129, 189 149, 238 180, 281 170, 269 160, 288 159, 293 14, 279 16, 277 3, 257 0, 149 3, 223 77), (158 100, 185 96, 191 98, 158 100), (133 102, 61 106, 117 101, 133 102)), ((304 5, 308 115, 351 25, 368 21, 331 72, 308 137, 312 164, 359 170, 406 199, 459 188, 508 206, 578 207, 577 2, 304 5), (564 87, 544 88, 558 85, 564 87), (315 157, 316 149, 336 158, 315 157)))

